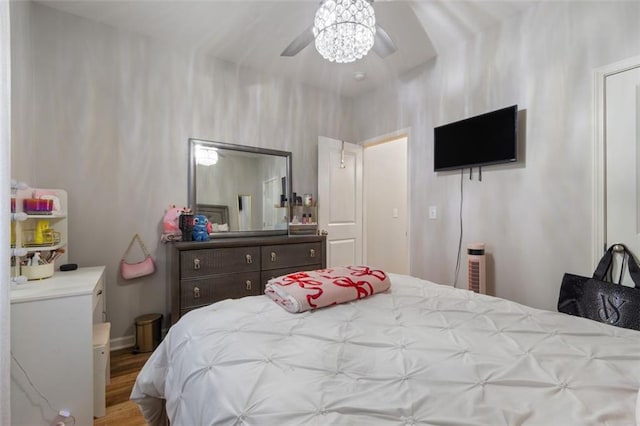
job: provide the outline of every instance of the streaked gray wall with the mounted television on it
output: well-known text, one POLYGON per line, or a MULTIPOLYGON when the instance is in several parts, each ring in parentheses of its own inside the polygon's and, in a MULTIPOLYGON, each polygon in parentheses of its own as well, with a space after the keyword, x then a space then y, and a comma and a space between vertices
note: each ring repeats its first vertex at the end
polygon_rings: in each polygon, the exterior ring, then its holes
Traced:
POLYGON ((512 104, 522 161, 465 174, 463 250, 484 241, 495 293, 534 307, 555 310, 565 271, 593 272, 592 72, 640 54, 638 22, 638 2, 541 2, 356 101, 356 140, 411 127, 414 275, 451 283, 456 264, 460 174, 433 172, 434 126, 512 104))

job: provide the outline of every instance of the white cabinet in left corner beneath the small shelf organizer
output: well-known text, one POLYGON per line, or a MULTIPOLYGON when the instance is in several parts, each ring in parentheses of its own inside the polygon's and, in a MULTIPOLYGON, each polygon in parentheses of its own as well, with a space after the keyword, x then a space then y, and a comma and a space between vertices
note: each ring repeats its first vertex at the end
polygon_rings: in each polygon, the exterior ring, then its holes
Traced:
POLYGON ((104 320, 104 286, 105 267, 96 266, 11 289, 12 425, 49 425, 59 410, 93 424, 93 324, 104 320))

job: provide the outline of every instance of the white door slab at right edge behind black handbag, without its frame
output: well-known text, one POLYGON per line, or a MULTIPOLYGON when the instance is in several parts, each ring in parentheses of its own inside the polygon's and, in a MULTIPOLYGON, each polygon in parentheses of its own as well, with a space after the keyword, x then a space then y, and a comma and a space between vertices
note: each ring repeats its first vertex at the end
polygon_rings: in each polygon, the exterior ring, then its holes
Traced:
MULTIPOLYGON (((640 256, 640 65, 605 79, 607 245, 624 243, 640 256)), ((618 258, 619 256, 616 256, 618 258)), ((626 269, 626 268, 625 268, 626 269)), ((613 270, 617 282, 619 262, 613 270)), ((631 278, 625 272, 624 284, 631 278)), ((631 285, 631 284, 630 284, 631 285)))

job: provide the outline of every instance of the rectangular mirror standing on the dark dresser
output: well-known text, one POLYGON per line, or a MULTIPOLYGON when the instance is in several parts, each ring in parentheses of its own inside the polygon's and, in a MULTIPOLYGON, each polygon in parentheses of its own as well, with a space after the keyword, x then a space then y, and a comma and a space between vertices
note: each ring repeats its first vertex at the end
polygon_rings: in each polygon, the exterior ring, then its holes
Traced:
POLYGON ((188 191, 211 237, 287 234, 291 153, 189 139, 188 191))

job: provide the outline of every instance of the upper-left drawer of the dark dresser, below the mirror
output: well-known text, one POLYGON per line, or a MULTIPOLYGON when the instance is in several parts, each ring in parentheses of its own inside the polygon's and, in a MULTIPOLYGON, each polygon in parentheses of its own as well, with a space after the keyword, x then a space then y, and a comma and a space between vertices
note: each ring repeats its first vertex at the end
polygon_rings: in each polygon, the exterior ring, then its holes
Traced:
POLYGON ((181 278, 259 270, 259 247, 186 250, 180 253, 181 278))

